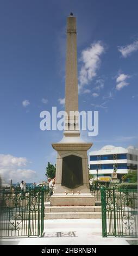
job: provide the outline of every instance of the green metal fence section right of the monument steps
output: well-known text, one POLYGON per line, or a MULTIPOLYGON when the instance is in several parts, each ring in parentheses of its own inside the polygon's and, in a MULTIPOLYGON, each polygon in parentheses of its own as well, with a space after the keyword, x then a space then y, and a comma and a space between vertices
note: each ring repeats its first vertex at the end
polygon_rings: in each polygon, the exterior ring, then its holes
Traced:
POLYGON ((101 188, 102 234, 137 237, 137 190, 101 188))

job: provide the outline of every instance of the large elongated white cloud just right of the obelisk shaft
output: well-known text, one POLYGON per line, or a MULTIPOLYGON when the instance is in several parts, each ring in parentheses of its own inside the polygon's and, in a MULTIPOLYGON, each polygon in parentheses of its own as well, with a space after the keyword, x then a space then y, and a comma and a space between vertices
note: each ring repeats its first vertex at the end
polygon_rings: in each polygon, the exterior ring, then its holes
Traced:
POLYGON ((79 72, 79 90, 83 89, 85 84, 88 84, 96 76, 96 72, 101 64, 100 57, 103 52, 104 46, 100 41, 91 44, 89 48, 81 52, 80 60, 83 64, 79 72))

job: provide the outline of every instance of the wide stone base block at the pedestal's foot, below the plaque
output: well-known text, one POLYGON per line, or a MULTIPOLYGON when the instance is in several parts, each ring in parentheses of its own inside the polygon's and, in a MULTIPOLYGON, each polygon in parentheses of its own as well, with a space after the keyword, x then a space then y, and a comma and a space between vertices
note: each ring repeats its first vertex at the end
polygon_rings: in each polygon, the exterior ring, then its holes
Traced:
POLYGON ((53 194, 51 196, 51 206, 93 206, 95 197, 90 193, 85 194, 53 194))

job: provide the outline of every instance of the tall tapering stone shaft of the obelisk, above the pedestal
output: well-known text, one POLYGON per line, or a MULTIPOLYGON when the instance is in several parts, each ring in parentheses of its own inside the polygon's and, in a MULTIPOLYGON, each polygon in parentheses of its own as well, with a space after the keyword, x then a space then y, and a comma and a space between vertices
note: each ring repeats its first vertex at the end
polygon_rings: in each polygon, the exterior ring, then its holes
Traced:
MULTIPOLYGON (((70 111, 78 111, 77 29, 76 17, 73 16, 67 18, 65 111, 68 114, 68 130, 71 125, 72 131, 76 130, 77 120, 70 115, 70 111)), ((64 135, 68 136, 68 133, 64 132, 64 135)))

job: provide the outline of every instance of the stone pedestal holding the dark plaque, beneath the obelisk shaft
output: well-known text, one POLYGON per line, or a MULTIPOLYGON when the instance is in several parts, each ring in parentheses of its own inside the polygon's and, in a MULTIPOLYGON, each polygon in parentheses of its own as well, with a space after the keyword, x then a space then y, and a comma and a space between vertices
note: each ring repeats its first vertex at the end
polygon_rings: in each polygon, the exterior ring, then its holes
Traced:
POLYGON ((91 145, 92 143, 85 142, 52 144, 58 153, 52 206, 95 205, 89 188, 87 164, 87 150, 91 145))

